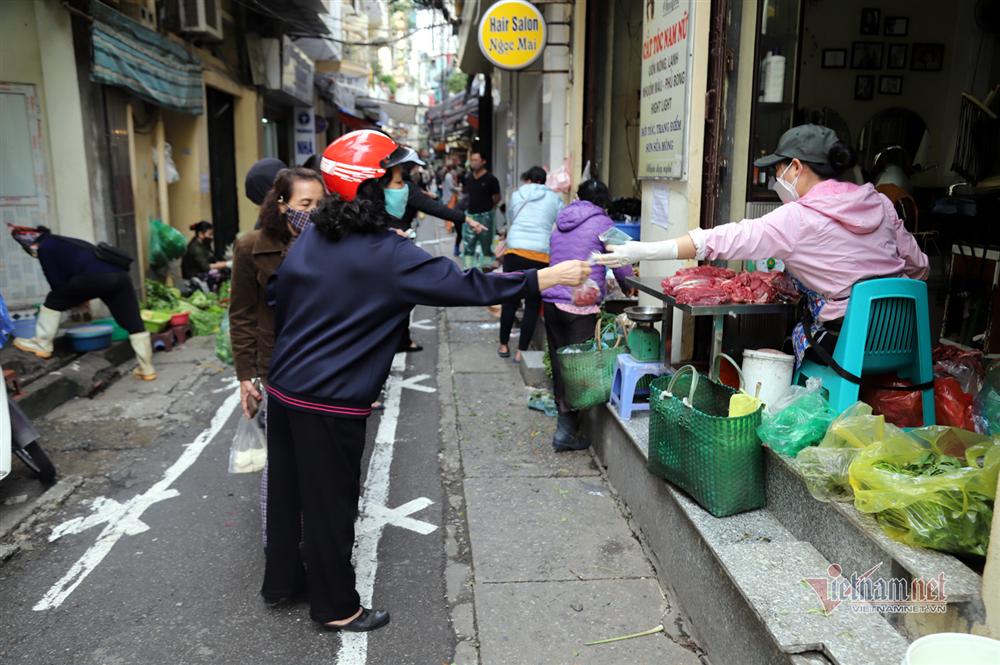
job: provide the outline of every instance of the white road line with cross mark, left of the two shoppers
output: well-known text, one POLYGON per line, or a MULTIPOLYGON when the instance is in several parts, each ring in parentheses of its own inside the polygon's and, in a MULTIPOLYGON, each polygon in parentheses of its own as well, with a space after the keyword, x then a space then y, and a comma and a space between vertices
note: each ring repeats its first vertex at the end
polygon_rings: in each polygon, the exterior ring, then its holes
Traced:
POLYGON ((104 530, 101 531, 97 541, 90 546, 90 549, 84 552, 83 556, 73 564, 62 579, 53 584, 52 588, 35 604, 33 609, 36 612, 59 607, 80 586, 80 583, 100 565, 122 536, 132 536, 149 528, 142 521, 142 514, 154 503, 171 499, 180 494, 171 485, 198 460, 198 456, 225 426, 239 403, 239 391, 227 397, 219 410, 215 412, 208 428, 199 434, 192 443, 188 444, 177 461, 146 492, 132 497, 124 504, 106 497, 98 497, 91 506, 93 510, 91 515, 68 520, 53 529, 49 540, 56 540, 69 533, 80 533, 85 529, 106 523, 104 530))

